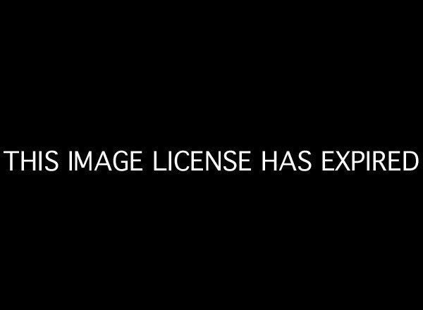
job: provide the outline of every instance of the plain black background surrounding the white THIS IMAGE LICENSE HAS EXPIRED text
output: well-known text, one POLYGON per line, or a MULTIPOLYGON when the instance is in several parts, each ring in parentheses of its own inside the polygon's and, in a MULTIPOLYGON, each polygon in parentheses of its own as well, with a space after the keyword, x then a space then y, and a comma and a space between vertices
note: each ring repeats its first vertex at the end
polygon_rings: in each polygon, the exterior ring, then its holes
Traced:
POLYGON ((20 8, 2 39, 1 150, 251 149, 255 171, 3 170, 8 291, 118 304, 413 294, 421 168, 322 173, 319 154, 421 156, 417 20, 175 9, 20 8), (310 173, 259 172, 260 151, 302 149, 310 173))

